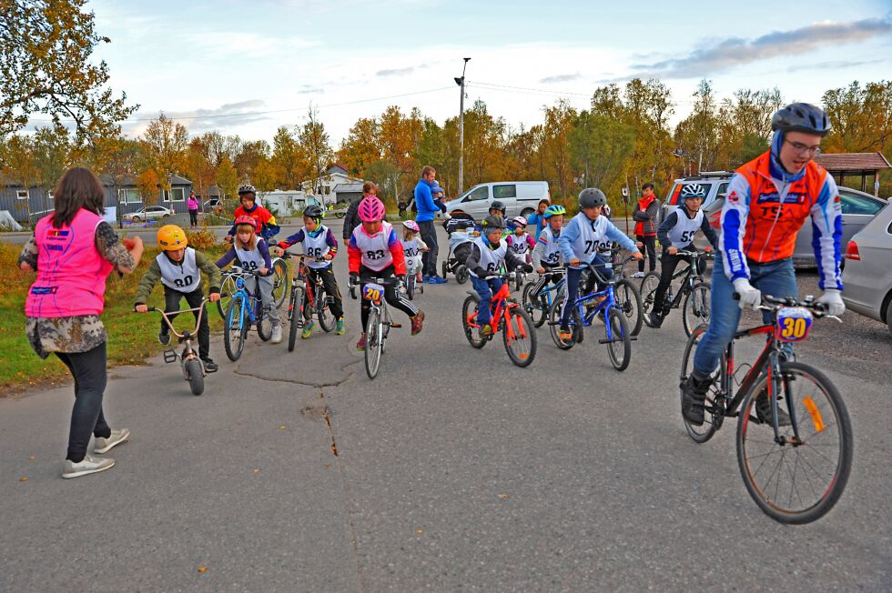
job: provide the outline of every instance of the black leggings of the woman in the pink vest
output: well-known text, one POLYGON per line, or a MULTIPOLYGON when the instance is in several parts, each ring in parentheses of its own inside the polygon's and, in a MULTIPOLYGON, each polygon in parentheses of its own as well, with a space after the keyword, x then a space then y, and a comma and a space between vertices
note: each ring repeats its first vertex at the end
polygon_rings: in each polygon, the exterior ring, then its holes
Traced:
POLYGON ((102 413, 106 391, 106 343, 86 352, 56 352, 75 378, 75 407, 71 410, 66 459, 80 463, 86 456, 90 435, 111 437, 111 428, 102 413))

